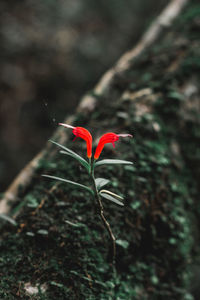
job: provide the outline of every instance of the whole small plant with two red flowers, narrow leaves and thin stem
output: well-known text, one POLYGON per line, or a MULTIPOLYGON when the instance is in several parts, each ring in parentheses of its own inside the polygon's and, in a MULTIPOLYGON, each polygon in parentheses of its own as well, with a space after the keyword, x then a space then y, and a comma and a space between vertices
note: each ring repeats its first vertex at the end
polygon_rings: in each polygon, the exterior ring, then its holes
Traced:
POLYGON ((66 128, 72 129, 73 134, 75 135, 75 139, 80 137, 83 140, 85 140, 86 145, 87 145, 87 157, 88 161, 85 160, 83 157, 75 153, 74 151, 66 148, 63 145, 60 145, 54 141, 51 141, 53 144, 56 144, 59 146, 61 149, 60 152, 63 154, 66 154, 68 156, 71 156, 75 160, 77 160, 84 168, 86 168, 87 172, 89 173, 89 176, 91 178, 92 186, 86 186, 68 179, 56 177, 56 176, 51 176, 51 175, 43 175, 45 177, 51 178, 51 179, 56 179, 60 180, 69 184, 72 184, 76 187, 82 188, 90 192, 90 194, 93 196, 93 198, 96 199, 98 208, 99 208, 99 215, 103 221, 103 224, 108 231, 108 234, 110 236, 110 239, 112 241, 112 261, 113 264, 115 263, 115 255, 116 255, 116 244, 115 244, 115 236, 111 230, 110 224, 108 223, 107 219, 104 216, 104 208, 103 208, 103 203, 102 203, 102 198, 105 198, 109 201, 114 202, 117 205, 123 206, 123 197, 107 190, 104 189, 104 187, 110 182, 110 180, 105 179, 105 178, 95 178, 95 173, 94 170, 96 167, 102 166, 102 165, 110 165, 110 164, 123 164, 123 165, 130 165, 133 164, 130 161, 125 161, 125 160, 119 160, 119 159, 103 159, 103 160, 98 160, 101 152, 105 146, 105 144, 111 143, 113 147, 115 147, 115 142, 119 140, 119 138, 126 138, 126 137, 132 137, 131 134, 115 134, 113 132, 108 132, 102 135, 100 138, 97 148, 95 150, 94 157, 92 157, 92 135, 90 132, 83 128, 83 127, 74 127, 68 124, 63 124, 59 123, 59 125, 64 126, 66 128), (98 161, 97 161, 98 160, 98 161))

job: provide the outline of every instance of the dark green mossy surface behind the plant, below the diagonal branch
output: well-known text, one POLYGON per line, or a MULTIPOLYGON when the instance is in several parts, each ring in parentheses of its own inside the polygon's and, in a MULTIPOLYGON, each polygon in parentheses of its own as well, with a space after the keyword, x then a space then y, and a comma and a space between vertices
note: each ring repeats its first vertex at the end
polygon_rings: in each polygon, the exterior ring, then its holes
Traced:
MULTIPOLYGON (((85 170, 57 151, 40 161, 30 186, 21 190, 13 208, 20 211, 17 226, 1 226, 1 299, 193 299, 193 266, 199 264, 199 9, 187 7, 173 32, 99 97, 92 115, 76 117, 75 125, 94 136, 111 130, 134 135, 102 153, 133 166, 96 171, 126 197, 124 208, 104 202, 118 239, 117 273, 91 196, 41 177, 90 185, 85 170), (38 293, 30 296, 27 284, 38 293)), ((67 147, 85 154, 81 141, 67 147)))

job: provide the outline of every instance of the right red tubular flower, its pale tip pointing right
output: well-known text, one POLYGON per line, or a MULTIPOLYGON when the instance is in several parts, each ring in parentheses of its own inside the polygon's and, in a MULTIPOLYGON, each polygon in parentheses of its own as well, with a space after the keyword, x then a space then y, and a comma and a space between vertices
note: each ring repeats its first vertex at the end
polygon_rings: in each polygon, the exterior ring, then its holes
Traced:
POLYGON ((113 147, 115 147, 115 142, 119 140, 119 137, 133 137, 131 134, 115 134, 113 132, 108 132, 102 135, 102 137, 99 140, 99 143, 97 145, 95 154, 94 154, 94 159, 98 159, 103 147, 107 143, 112 143, 113 147))

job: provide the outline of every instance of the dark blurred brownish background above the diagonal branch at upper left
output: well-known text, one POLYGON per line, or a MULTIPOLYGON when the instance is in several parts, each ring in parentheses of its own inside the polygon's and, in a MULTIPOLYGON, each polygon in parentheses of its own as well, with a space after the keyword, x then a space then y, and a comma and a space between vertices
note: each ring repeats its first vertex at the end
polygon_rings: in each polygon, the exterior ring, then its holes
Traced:
POLYGON ((0 192, 167 3, 0 1, 0 192))

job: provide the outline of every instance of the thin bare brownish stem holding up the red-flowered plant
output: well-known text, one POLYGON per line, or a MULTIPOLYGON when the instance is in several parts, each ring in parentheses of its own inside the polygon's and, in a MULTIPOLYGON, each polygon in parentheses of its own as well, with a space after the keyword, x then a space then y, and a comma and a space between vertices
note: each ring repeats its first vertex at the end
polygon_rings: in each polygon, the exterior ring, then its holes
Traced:
POLYGON ((112 264, 113 264, 113 267, 114 267, 115 266, 115 257, 116 257, 116 243, 115 243, 116 239, 115 239, 115 236, 112 232, 110 224, 108 223, 108 221, 106 220, 106 218, 104 216, 103 204, 101 202, 101 198, 100 198, 98 190, 97 190, 95 177, 94 177, 94 168, 92 166, 91 166, 90 175, 92 177, 92 181, 93 181, 93 185, 94 185, 95 198, 97 200, 97 204, 98 204, 98 208, 99 208, 99 214, 100 214, 100 217, 103 221, 104 227, 106 228, 106 230, 107 230, 107 232, 110 236, 110 239, 112 241, 112 264))

